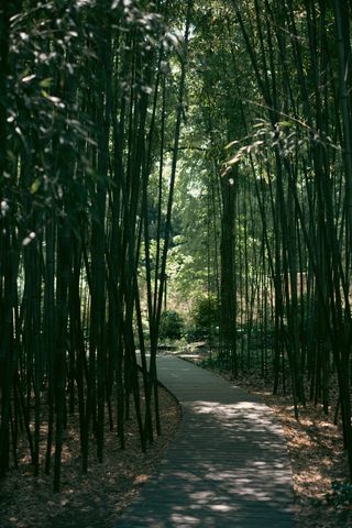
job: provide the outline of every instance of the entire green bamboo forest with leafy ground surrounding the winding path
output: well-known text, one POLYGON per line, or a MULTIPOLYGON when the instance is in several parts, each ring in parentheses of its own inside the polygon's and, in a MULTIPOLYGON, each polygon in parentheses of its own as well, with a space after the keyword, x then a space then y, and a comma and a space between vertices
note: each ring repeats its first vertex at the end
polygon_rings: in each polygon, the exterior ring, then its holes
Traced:
POLYGON ((167 354, 309 443, 297 528, 352 526, 351 21, 351 0, 0 1, 2 528, 114 526, 125 464, 177 443, 167 354), (80 524, 69 458, 87 504, 109 470, 109 521, 80 524))

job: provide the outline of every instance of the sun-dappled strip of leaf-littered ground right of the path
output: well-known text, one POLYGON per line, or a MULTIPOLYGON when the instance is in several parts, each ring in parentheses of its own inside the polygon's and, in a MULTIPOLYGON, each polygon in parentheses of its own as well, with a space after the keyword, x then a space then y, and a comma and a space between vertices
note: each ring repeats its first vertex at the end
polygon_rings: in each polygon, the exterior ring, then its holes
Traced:
MULTIPOLYGON (((343 484, 349 474, 342 431, 333 424, 334 405, 331 405, 329 415, 326 415, 321 405, 308 402, 305 407, 299 406, 299 419, 296 420, 292 396, 273 396, 272 380, 263 380, 254 372, 248 372, 234 380, 211 365, 211 356, 204 346, 196 349, 196 353, 193 350, 190 354, 183 354, 183 358, 204 366, 208 365, 207 369, 217 372, 230 383, 255 394, 275 413, 284 428, 293 469, 297 528, 352 527, 351 503, 343 504, 340 494, 339 504, 332 498, 332 484, 343 484)), ((331 402, 337 400, 337 388, 332 386, 331 402)), ((352 498, 352 488, 346 493, 350 493, 352 498)))

